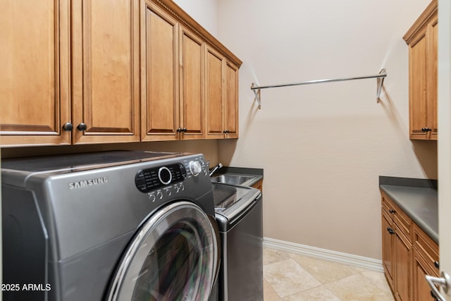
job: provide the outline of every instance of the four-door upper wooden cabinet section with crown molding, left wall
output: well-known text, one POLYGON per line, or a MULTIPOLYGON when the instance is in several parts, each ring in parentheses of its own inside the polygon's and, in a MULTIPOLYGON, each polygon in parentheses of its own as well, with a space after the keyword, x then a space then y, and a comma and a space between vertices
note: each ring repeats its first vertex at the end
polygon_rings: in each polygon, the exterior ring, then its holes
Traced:
POLYGON ((142 140, 237 138, 241 61, 172 1, 142 11, 142 140))

